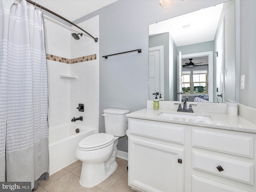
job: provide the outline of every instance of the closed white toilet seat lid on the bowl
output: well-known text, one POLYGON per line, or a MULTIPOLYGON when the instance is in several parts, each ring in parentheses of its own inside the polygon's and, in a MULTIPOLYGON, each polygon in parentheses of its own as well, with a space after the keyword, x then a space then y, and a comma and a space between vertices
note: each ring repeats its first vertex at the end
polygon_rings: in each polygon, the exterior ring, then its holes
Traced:
POLYGON ((114 136, 107 133, 93 134, 81 140, 78 149, 82 151, 97 150, 109 146, 114 140, 114 136))

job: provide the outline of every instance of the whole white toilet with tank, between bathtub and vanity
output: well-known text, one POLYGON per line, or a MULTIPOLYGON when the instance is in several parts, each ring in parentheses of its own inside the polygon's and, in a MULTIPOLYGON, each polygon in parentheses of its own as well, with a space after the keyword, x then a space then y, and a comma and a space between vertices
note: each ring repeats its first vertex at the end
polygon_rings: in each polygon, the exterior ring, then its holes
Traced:
POLYGON ((126 135, 129 110, 104 109, 105 132, 82 139, 76 149, 76 158, 83 162, 80 185, 93 187, 104 181, 117 168, 118 138, 126 135))

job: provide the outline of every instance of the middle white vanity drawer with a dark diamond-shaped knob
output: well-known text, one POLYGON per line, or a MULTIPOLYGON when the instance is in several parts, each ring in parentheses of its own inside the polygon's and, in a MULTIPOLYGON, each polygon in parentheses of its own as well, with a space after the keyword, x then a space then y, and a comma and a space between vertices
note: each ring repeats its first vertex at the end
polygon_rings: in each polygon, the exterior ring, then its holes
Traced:
POLYGON ((253 185, 251 163, 193 151, 192 168, 253 185), (219 171, 217 166, 221 166, 223 170, 219 171))

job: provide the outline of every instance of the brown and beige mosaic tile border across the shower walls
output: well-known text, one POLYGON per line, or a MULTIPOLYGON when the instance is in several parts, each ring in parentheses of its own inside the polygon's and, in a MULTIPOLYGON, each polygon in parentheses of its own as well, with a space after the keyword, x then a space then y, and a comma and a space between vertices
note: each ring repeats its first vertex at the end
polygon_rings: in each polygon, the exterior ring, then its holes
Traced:
POLYGON ((58 61, 58 62, 62 62, 62 63, 67 63, 67 64, 74 64, 74 63, 96 60, 96 54, 82 56, 82 57, 78 57, 78 58, 74 58, 74 59, 67 59, 64 57, 56 56, 56 55, 46 54, 46 59, 52 60, 52 61, 58 61))

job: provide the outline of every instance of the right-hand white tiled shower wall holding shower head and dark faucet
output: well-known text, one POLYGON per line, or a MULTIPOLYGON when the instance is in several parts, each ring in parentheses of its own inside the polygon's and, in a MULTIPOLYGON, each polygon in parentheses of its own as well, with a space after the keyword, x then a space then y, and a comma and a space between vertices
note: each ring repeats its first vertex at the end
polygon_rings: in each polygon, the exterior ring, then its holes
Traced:
MULTIPOLYGON (((81 28, 99 38, 99 17, 96 16, 78 24, 81 28)), ((71 27, 71 33, 81 32, 71 27)), ((83 116, 83 121, 72 122, 91 128, 98 132, 99 124, 99 42, 83 33, 80 40, 75 40, 71 35, 71 58, 92 56, 90 60, 71 64, 71 74, 77 74, 77 80, 70 81, 70 118, 83 116), (76 108, 79 103, 84 104, 84 112, 76 108)), ((99 38, 100 39, 100 38, 99 38)), ((79 60, 79 59, 78 59, 79 60)))

